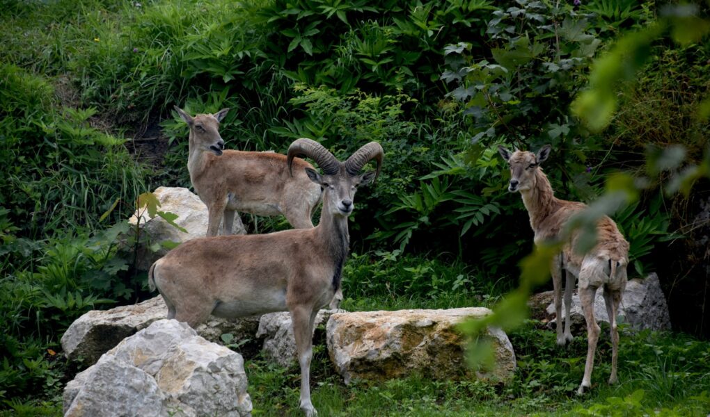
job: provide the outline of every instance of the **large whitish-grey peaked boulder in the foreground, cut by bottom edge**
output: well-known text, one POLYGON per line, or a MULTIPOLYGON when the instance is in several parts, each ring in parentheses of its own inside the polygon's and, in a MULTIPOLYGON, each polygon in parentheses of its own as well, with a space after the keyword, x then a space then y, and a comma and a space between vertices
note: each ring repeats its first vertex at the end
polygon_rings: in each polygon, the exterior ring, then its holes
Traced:
POLYGON ((251 416, 244 360, 163 319, 124 339, 65 387, 65 417, 251 416))

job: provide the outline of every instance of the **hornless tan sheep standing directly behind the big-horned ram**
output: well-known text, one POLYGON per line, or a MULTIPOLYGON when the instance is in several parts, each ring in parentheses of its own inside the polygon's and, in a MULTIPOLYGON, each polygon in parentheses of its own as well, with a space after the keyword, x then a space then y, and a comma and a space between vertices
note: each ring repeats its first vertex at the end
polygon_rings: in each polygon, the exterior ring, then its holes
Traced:
POLYGON ((293 177, 286 156, 273 152, 223 150, 219 122, 229 109, 192 117, 175 107, 190 126, 187 170, 192 187, 209 211, 207 236, 216 236, 224 218, 223 235, 231 235, 236 211, 259 216, 283 215, 294 228, 312 228, 311 216, 321 189, 305 174, 312 168, 295 160, 293 177))

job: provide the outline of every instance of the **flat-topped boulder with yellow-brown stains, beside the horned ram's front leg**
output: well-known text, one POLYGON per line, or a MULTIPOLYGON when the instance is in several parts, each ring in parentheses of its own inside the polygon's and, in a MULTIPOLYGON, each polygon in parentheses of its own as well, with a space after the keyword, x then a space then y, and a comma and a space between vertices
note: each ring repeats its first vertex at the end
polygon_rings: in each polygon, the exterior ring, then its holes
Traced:
POLYGON ((351 379, 383 380, 417 372, 425 377, 464 377, 502 382, 515 370, 515 353, 503 330, 488 328, 495 367, 471 369, 466 344, 456 326, 481 318, 488 308, 336 313, 327 323, 330 359, 346 384, 351 379))

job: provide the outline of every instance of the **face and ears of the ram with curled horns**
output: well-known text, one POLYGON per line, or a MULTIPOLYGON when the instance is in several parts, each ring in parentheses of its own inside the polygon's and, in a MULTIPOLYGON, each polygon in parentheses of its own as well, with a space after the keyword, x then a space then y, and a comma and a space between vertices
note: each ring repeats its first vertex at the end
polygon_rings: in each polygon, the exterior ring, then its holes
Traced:
POLYGON ((367 185, 375 179, 375 172, 351 176, 344 173, 321 175, 315 169, 306 168, 312 182, 320 184, 323 189, 323 210, 334 216, 349 216, 354 206, 355 193, 361 185, 367 185))

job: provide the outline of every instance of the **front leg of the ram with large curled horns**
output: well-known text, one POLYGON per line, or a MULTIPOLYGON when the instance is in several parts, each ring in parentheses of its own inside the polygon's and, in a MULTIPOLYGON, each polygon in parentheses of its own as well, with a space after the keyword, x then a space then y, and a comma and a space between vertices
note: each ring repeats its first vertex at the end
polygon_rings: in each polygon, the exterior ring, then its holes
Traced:
POLYGON ((296 339, 298 365, 301 367, 300 408, 307 417, 317 416, 318 412, 310 399, 310 362, 313 357, 313 323, 317 309, 297 306, 290 310, 293 321, 293 335, 296 339))

